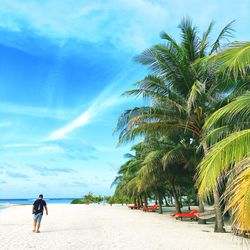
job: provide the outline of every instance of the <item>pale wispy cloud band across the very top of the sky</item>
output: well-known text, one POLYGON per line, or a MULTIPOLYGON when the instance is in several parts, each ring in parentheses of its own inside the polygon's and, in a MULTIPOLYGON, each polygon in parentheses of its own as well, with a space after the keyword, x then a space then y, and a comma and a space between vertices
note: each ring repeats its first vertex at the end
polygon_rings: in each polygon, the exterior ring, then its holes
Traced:
POLYGON ((247 30, 248 6, 249 0, 1 0, 0 27, 16 33, 28 29, 29 35, 33 31, 57 45, 74 39, 138 52, 159 41, 162 30, 176 32, 187 15, 202 29, 212 19, 222 24, 239 19, 247 30))

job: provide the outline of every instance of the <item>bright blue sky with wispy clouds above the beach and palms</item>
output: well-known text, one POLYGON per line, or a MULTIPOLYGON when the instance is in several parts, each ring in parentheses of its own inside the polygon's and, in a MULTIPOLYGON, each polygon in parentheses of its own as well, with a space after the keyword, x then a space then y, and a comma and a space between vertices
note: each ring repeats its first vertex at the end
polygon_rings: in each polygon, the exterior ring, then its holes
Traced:
POLYGON ((110 195, 130 144, 113 135, 121 97, 147 74, 133 58, 178 40, 189 16, 249 40, 250 0, 0 0, 0 198, 110 195))

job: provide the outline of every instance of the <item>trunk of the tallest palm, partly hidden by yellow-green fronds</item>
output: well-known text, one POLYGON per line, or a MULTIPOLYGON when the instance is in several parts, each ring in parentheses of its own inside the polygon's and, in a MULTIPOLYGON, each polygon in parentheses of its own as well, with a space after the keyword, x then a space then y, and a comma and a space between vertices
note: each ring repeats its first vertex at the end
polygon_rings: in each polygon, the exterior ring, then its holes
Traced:
MULTIPOLYGON (((206 142, 202 143, 202 147, 204 150, 204 155, 206 156, 208 153, 208 145, 206 142)), ((220 208, 220 194, 217 190, 217 187, 214 187, 213 190, 213 196, 214 196, 214 210, 215 210, 215 232, 224 233, 224 222, 223 222, 223 216, 220 208)))

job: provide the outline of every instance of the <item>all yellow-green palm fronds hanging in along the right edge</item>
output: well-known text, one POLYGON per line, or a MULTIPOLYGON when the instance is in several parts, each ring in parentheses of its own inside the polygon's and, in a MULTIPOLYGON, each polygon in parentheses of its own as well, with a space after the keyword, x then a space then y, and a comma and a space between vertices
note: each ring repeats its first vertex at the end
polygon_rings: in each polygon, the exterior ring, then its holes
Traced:
POLYGON ((226 209, 231 211, 234 228, 250 230, 250 43, 235 42, 226 50, 209 58, 218 64, 218 71, 236 81, 244 81, 242 96, 213 113, 204 125, 210 130, 207 139, 213 146, 200 163, 199 193, 203 198, 221 183, 226 175, 226 209), (215 140, 214 140, 215 138, 215 140))

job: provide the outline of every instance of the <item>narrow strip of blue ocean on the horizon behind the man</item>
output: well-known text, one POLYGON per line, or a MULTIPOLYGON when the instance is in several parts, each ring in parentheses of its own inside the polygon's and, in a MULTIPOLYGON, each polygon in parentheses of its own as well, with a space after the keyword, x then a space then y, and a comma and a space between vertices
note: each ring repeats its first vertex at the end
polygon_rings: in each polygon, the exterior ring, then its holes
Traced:
MULTIPOLYGON (((44 199, 48 204, 70 204, 72 200, 78 198, 47 198, 44 199)), ((36 198, 28 198, 28 199, 0 199, 0 204, 33 204, 36 198)), ((1 208, 5 208, 5 206, 0 206, 1 208)))

